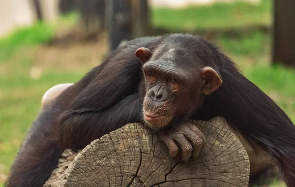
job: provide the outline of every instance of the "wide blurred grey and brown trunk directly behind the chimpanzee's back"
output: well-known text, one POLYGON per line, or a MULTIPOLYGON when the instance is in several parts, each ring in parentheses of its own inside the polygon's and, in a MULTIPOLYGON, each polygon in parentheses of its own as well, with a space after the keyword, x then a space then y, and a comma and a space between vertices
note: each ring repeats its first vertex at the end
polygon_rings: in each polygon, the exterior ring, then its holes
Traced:
POLYGON ((110 51, 120 42, 149 35, 148 0, 107 0, 110 51))

